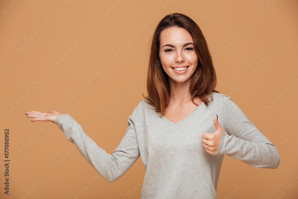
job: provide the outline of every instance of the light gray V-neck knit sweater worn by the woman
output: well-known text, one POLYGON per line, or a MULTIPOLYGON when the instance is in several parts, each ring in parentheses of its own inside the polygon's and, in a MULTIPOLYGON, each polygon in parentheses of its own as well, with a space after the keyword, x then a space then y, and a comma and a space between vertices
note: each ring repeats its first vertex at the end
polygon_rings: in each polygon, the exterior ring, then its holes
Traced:
POLYGON ((230 97, 216 92, 212 96, 208 106, 202 102, 177 123, 159 118, 150 109, 153 107, 141 100, 112 154, 97 146, 70 115, 59 115, 54 124, 109 182, 120 178, 141 156, 146 169, 141 198, 217 198, 224 155, 270 169, 277 168, 280 156, 230 97), (201 135, 215 132, 216 114, 224 130, 216 154, 211 155, 202 146, 201 135))

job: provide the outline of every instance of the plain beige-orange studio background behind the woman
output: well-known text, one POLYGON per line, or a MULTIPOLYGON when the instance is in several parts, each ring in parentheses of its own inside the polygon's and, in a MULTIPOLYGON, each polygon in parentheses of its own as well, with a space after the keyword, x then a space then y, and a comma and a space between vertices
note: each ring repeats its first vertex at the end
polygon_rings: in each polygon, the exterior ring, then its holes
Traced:
POLYGON ((74 194, 84 186, 88 189, 79 195, 80 199, 140 198, 141 187, 135 189, 135 183, 143 184, 145 176, 141 158, 117 181, 109 183, 100 177, 90 186, 88 180, 97 172, 75 145, 66 139, 56 124, 30 122, 31 118, 26 118, 25 113, 52 109, 68 113, 98 146, 111 154, 124 136, 128 116, 142 100, 150 37, 159 20, 172 12, 184 13, 199 25, 212 55, 229 41, 232 43, 219 58, 214 57, 219 80, 217 90, 232 98, 249 120, 278 147, 280 154, 277 169, 257 169, 225 156, 217 188, 218 198, 229 198, 227 194, 235 199, 276 198, 277 195, 288 199, 298 197, 298 185, 294 181, 298 176, 295 127, 298 84, 293 79, 298 74, 297 1, 120 0, 105 18, 102 13, 116 1, 16 2, 16 5, 8 0, 0 2, 1 165, 5 159, 6 128, 10 131, 11 160, 9 196, 3 193, 4 171, 0 166, 0 198, 25 195, 32 199, 68 199, 75 198, 74 194), (266 4, 268 9, 263 10, 266 4), (215 5, 218 7, 212 7, 215 5), (208 12, 209 16, 202 20, 201 16, 208 12), (44 20, 49 24, 46 25, 44 20), (43 30, 36 35, 35 29, 43 23, 45 27, 41 27, 43 30), (135 38, 132 34, 143 23, 149 26, 135 38), (247 30, 238 33, 242 26, 247 30), (88 36, 74 48, 72 42, 80 38, 82 32, 88 36), (241 36, 235 41, 232 36, 237 33, 241 36), (17 52, 16 48, 24 42, 26 45, 25 39, 28 41, 30 36, 34 39, 17 52), (116 57, 114 52, 130 38, 133 42, 116 57), (282 45, 278 44, 280 38, 286 40, 280 42, 282 45), (271 51, 275 45, 279 48, 271 51), (72 52, 56 67, 54 61, 68 48, 72 52), (253 72, 255 62, 267 53, 270 57, 253 72), (94 75, 94 71, 101 74, 87 87, 84 82, 94 75), (34 81, 40 82, 35 88, 32 87, 34 81), (133 84, 139 87, 125 98, 122 94, 133 84), (289 89, 285 90, 285 85, 289 89), (68 104, 67 99, 82 86, 85 90, 68 104), (31 89, 30 93, 24 92, 26 89, 31 89), (282 96, 274 101, 279 92, 282 96), (17 104, 15 101, 20 97, 23 100, 17 104), (106 117, 104 112, 119 99, 123 103, 106 117), (265 105, 272 100, 273 106, 266 110, 265 105), (13 103, 14 109, 7 113, 6 109, 13 103), (39 128, 44 128, 40 135, 36 131, 39 128), (34 135, 36 139, 27 142, 34 135), (26 142, 30 145, 20 152, 26 142), (71 147, 75 150, 58 166, 56 160, 71 147), (28 191, 39 179, 41 185, 34 192, 28 191), (291 183, 292 188, 287 189, 291 183), (234 186, 241 188, 233 192, 234 186), (130 195, 129 191, 134 193, 130 195))

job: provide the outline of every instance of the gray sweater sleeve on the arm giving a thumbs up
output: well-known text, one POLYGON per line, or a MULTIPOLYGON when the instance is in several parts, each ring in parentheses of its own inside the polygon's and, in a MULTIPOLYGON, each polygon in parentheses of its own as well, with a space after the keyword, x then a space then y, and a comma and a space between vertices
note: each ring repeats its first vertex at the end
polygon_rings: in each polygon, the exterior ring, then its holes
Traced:
POLYGON ((226 95, 223 96, 223 113, 224 130, 215 155, 228 155, 254 167, 276 169, 280 156, 274 144, 226 95))

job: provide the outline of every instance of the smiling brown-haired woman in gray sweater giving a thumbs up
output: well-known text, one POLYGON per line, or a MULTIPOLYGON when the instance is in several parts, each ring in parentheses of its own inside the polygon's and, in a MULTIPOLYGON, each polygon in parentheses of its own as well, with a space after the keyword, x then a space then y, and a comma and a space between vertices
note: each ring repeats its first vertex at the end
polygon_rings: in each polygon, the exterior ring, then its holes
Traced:
POLYGON ((68 114, 26 114, 32 121, 57 124, 109 182, 141 156, 146 169, 141 198, 217 198, 224 155, 271 169, 278 167, 280 157, 274 144, 215 86, 203 33, 191 18, 173 13, 153 34, 148 97, 143 95, 128 117, 125 135, 111 155, 68 114))

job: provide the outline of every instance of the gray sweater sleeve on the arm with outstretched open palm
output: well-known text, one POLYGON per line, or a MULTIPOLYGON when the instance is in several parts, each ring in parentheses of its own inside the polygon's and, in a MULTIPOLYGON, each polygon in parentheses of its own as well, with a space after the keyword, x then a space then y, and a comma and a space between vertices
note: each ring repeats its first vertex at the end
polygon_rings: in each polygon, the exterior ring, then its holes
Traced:
POLYGON ((69 114, 59 115, 54 124, 58 125, 66 138, 77 146, 83 157, 103 178, 113 182, 128 171, 140 156, 134 126, 135 110, 128 117, 125 135, 112 154, 106 153, 104 149, 97 146, 69 114))

